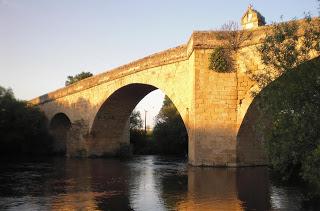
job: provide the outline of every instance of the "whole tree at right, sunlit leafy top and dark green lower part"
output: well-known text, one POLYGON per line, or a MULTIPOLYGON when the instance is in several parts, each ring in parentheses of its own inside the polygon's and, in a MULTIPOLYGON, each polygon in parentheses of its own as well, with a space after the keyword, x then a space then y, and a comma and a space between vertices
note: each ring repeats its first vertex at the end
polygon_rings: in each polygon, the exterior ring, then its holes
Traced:
POLYGON ((263 89, 253 93, 261 111, 256 129, 271 167, 284 181, 303 181, 309 197, 318 198, 320 57, 308 60, 320 53, 319 19, 274 24, 258 51, 266 66, 251 75, 263 89))

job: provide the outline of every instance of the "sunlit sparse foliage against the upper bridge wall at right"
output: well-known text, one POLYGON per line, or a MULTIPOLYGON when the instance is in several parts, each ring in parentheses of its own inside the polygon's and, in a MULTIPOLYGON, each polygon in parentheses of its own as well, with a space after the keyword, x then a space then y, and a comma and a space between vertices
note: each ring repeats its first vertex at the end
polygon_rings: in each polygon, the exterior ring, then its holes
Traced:
POLYGON ((258 47, 264 71, 251 73, 261 90, 286 71, 310 60, 320 52, 320 20, 274 23, 258 47))

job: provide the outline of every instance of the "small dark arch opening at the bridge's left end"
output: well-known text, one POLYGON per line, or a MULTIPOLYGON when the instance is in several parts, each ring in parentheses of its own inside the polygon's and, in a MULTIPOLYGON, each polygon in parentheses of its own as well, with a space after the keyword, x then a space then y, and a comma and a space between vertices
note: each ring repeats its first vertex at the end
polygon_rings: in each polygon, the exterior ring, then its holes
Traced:
POLYGON ((57 113, 50 121, 49 130, 53 136, 53 152, 57 155, 65 155, 67 151, 68 132, 71 121, 64 113, 57 113))

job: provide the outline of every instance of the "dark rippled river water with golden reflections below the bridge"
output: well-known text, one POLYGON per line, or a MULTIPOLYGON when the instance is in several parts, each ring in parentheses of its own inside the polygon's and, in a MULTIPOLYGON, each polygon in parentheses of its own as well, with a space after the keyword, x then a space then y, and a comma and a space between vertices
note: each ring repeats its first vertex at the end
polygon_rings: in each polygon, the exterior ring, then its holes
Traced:
POLYGON ((2 161, 0 210, 301 210, 268 170, 196 168, 178 158, 2 161))

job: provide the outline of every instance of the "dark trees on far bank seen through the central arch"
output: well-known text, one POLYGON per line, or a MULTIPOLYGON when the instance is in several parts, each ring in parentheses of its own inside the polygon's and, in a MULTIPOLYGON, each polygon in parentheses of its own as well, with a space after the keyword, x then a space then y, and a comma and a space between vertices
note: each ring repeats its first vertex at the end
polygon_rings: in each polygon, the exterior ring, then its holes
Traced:
POLYGON ((188 135, 183 120, 172 101, 166 96, 156 117, 153 132, 142 129, 138 111, 130 117, 130 142, 134 154, 186 155, 188 135))

